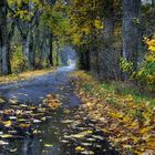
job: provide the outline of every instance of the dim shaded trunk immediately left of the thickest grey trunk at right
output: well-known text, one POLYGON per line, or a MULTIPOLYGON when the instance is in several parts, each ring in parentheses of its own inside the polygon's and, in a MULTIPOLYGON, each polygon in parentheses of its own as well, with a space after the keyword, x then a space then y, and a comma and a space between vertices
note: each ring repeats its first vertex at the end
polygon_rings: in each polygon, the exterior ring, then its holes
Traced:
POLYGON ((113 43, 114 43, 114 25, 115 25, 115 12, 114 1, 110 0, 104 3, 104 34, 103 34, 103 51, 100 52, 100 79, 116 79, 115 71, 118 68, 116 61, 113 43))

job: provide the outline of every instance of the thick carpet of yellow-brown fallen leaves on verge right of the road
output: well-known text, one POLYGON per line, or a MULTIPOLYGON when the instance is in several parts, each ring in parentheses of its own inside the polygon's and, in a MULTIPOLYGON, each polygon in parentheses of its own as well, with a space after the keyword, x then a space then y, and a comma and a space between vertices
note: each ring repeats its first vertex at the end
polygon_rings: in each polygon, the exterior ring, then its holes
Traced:
POLYGON ((82 110, 108 135, 112 146, 122 154, 155 153, 155 108, 148 101, 137 103, 132 95, 108 92, 82 71, 72 76, 72 84, 84 103, 82 110))

